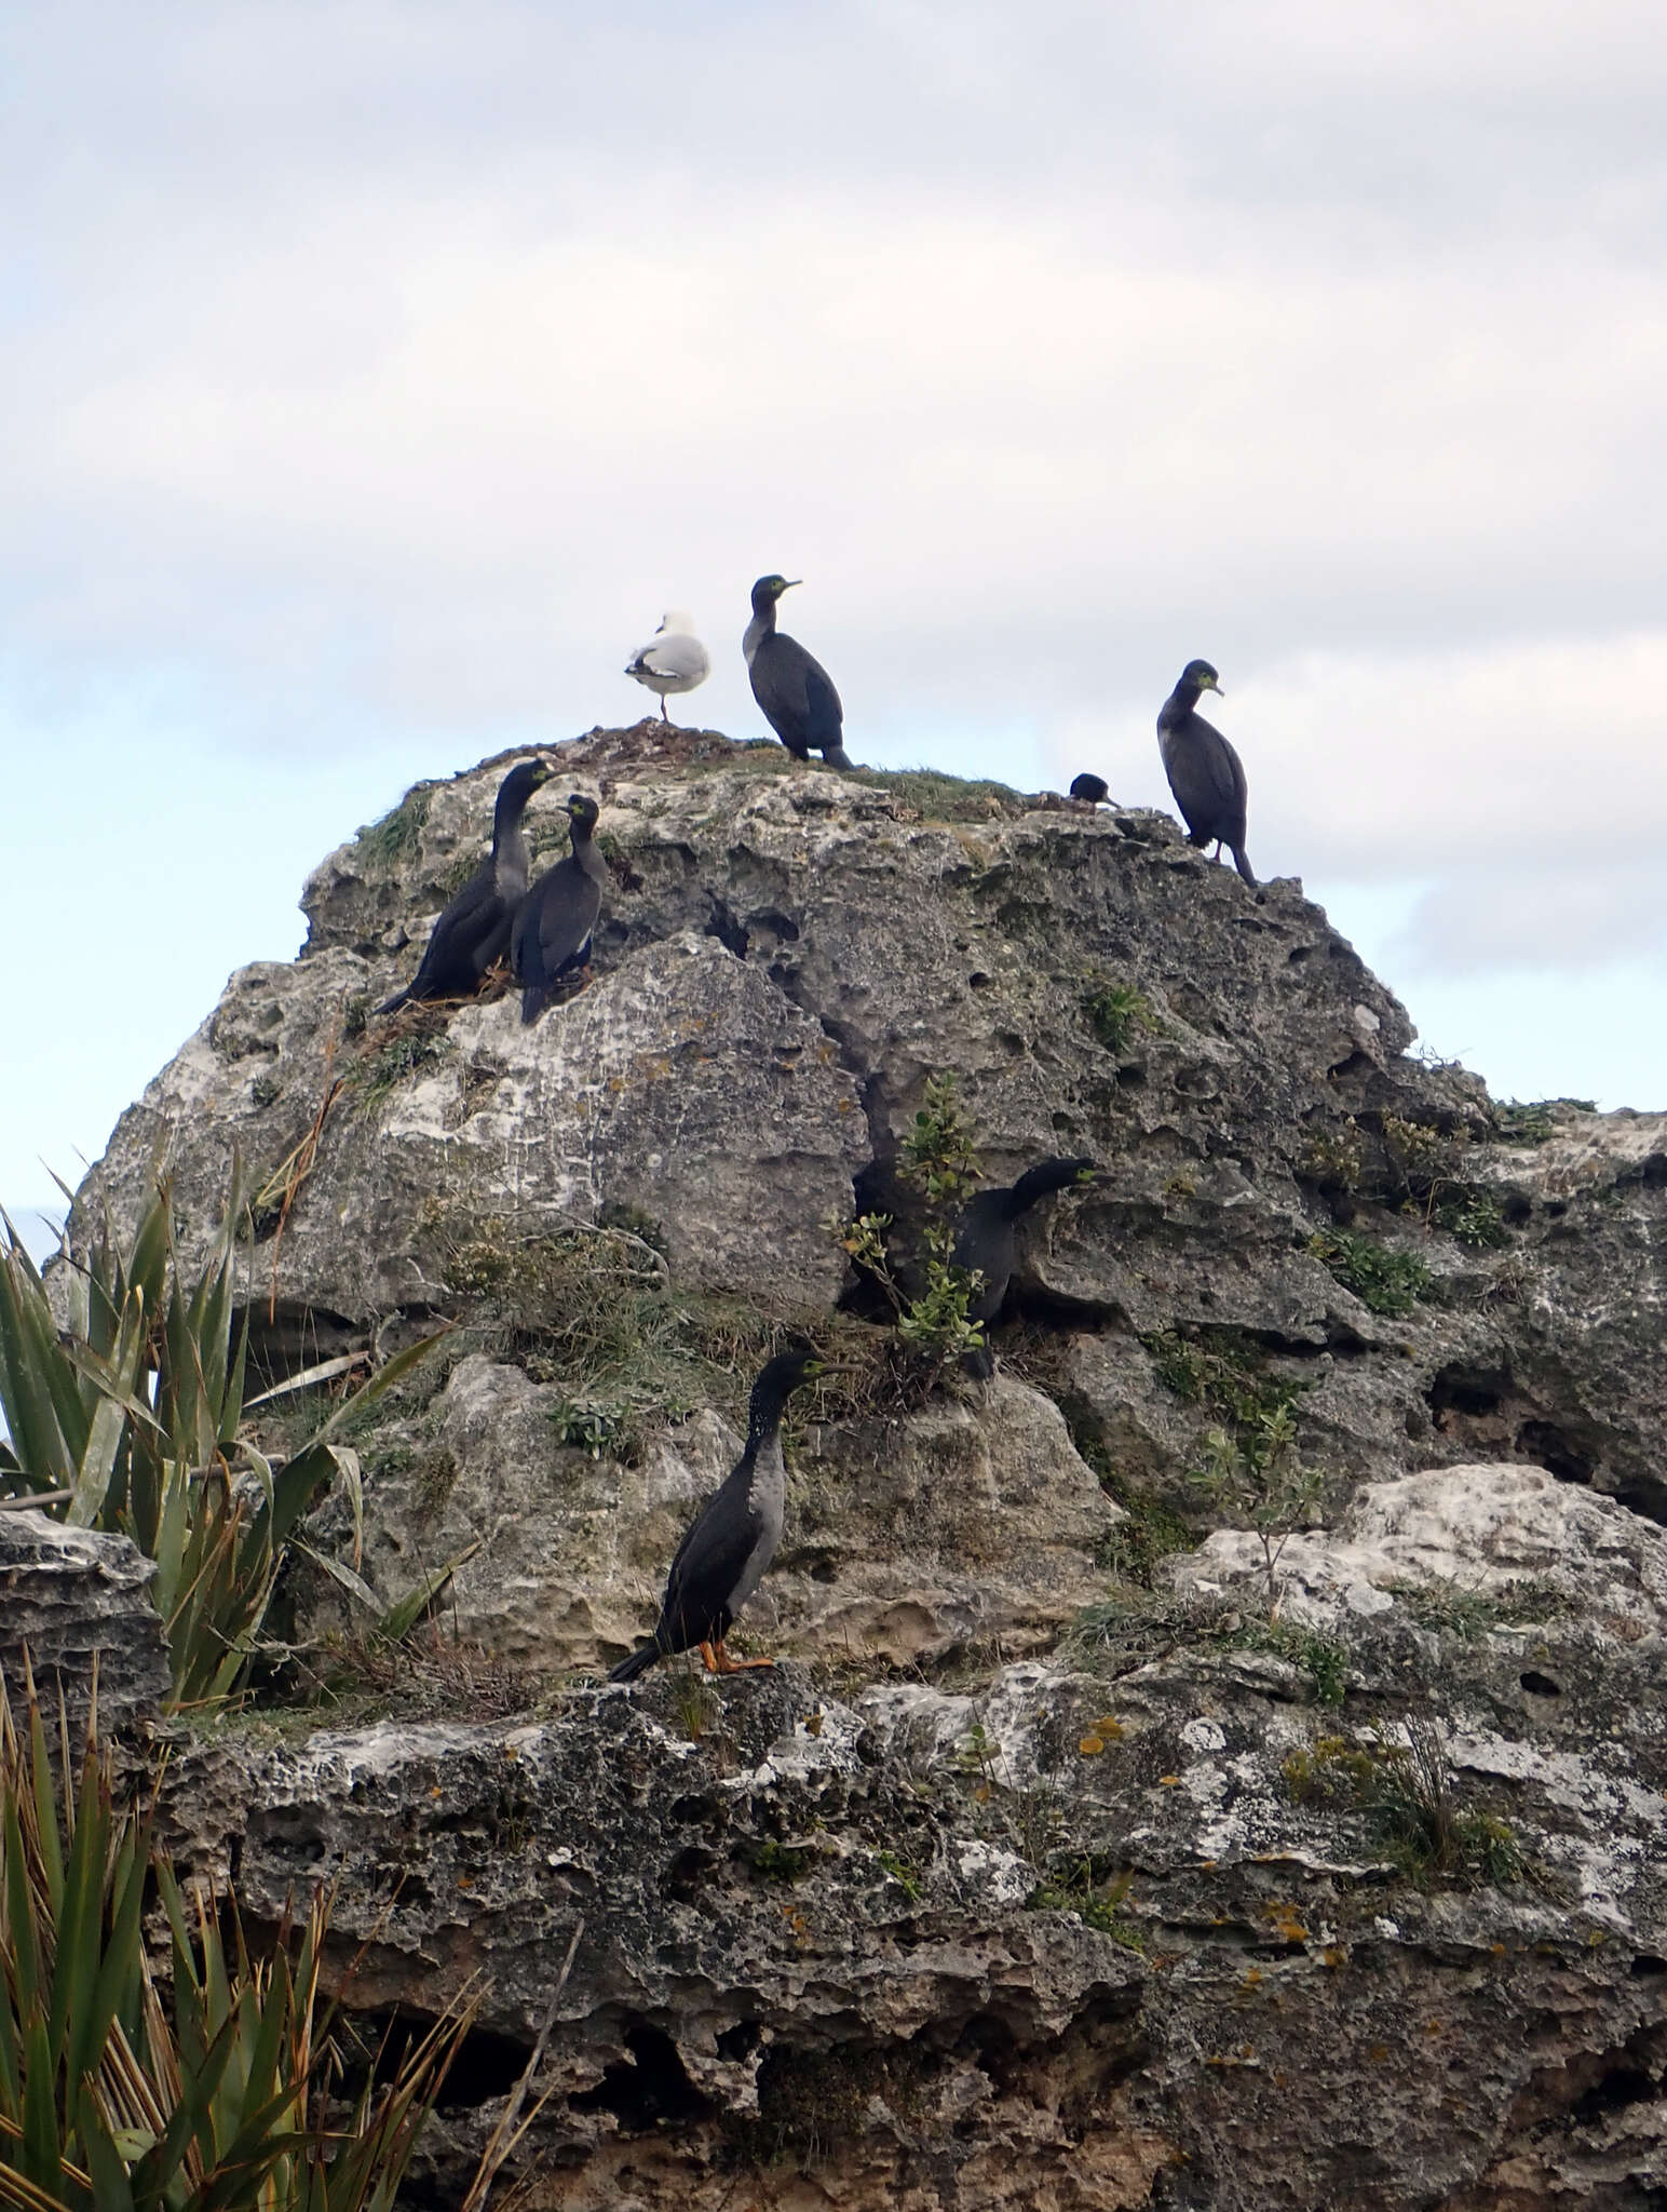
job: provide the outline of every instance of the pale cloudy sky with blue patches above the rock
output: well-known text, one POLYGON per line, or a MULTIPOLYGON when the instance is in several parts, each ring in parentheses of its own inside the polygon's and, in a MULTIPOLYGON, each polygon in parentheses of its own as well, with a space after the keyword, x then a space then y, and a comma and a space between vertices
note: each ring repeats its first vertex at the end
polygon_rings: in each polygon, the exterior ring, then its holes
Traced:
POLYGON ((0 11, 0 1203, 420 776, 765 726, 1165 805, 1499 1095, 1667 1106, 1667 18, 1629 0, 0 11))

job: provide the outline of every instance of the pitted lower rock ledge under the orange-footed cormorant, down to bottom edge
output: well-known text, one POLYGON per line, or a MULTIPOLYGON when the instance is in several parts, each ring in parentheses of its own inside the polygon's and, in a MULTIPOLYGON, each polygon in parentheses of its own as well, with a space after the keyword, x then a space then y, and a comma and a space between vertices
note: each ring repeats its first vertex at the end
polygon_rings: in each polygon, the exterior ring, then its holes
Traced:
POLYGON ((371 2017, 484 1975, 442 2192, 577 1931, 537 2205, 1643 2212, 1667 1537, 1488 1467, 1384 1484, 1333 1553, 1373 1601, 1329 1635, 1189 1579, 962 1690, 665 1668, 221 1743, 177 1847, 214 1865, 248 1801, 245 1907, 338 1880, 371 2017))

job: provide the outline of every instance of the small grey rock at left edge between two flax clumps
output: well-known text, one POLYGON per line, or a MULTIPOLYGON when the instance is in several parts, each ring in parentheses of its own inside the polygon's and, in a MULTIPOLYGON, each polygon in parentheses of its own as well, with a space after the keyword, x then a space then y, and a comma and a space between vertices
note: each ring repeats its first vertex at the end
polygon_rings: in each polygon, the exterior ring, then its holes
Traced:
POLYGON ((69 1528, 33 1509, 0 1513, 0 1674, 13 1701, 24 1657, 57 1710, 84 1717, 97 1674, 99 1728, 153 1721, 168 1694, 168 1644, 150 1604, 157 1568, 124 1535, 69 1528))

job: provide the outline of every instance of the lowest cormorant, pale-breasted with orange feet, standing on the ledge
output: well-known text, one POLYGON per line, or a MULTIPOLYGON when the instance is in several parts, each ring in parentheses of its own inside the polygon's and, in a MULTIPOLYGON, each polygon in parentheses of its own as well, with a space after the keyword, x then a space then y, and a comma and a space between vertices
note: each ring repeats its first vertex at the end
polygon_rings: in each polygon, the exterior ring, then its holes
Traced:
POLYGON ((608 1681, 637 1681, 657 1659, 699 1650, 707 1674, 738 1674, 774 1659, 732 1659, 723 1648, 736 1613, 776 1557, 787 1513, 787 1462, 780 1455, 780 1416, 791 1394, 829 1374, 809 1345, 778 1352, 752 1385, 747 1449, 707 1498, 677 1546, 665 1577, 665 1604, 654 1635, 639 1644, 608 1681))

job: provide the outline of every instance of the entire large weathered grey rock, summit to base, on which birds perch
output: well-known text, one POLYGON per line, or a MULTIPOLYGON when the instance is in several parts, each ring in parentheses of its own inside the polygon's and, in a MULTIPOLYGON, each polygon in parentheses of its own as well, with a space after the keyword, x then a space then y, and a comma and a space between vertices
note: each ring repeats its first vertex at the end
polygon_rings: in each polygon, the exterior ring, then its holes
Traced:
MULTIPOLYGON (((502 763, 424 787, 73 1221, 166 1137, 201 1241, 237 1146, 268 1367, 464 1316, 358 1438, 363 1573, 478 1542, 451 1619, 535 1717, 232 1732, 168 1794, 256 1918, 340 1880, 371 2024, 484 1971, 422 2201, 579 1922, 533 2205, 1667 2201, 1667 1117, 1501 1117, 1298 885, 1163 816, 692 732, 564 768, 615 869, 584 995, 365 1029, 502 763), (993 1179, 1101 1164, 1026 1225, 1004 1369, 796 1413, 774 1674, 575 1688, 772 1332, 891 1340, 825 1221, 909 1203, 948 1071, 993 1179), (1269 1588, 1194 1478, 1287 1413, 1324 1526, 1269 1588)), ((345 1500, 312 1535, 347 1551, 345 1500)))

